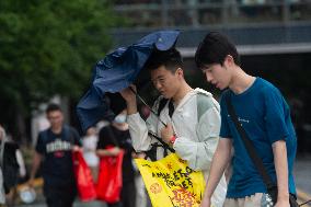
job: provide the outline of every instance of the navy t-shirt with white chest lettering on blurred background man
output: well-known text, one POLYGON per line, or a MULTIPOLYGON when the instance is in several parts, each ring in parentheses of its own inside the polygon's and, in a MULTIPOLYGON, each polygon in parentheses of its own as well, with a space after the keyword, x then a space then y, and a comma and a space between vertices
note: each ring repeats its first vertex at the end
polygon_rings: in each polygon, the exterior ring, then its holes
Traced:
POLYGON ((50 129, 39 133, 35 149, 44 156, 42 170, 45 185, 74 184, 72 143, 81 146, 79 134, 71 127, 62 127, 58 135, 50 129))

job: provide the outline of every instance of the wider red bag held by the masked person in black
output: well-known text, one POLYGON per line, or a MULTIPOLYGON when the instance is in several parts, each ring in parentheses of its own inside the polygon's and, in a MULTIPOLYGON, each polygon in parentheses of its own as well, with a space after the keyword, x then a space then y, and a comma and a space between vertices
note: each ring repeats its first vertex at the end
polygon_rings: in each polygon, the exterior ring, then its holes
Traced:
POLYGON ((96 185, 97 199, 113 204, 119 200, 122 189, 122 163, 124 151, 116 157, 103 157, 96 185))

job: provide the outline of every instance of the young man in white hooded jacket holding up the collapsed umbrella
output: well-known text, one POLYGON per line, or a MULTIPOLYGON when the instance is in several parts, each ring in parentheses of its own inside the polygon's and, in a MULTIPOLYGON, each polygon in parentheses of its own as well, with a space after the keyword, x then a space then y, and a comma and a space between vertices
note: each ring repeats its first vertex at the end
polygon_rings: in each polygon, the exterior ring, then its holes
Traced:
MULTIPOLYGON (((151 81, 161 96, 153 104, 153 111, 159 114, 151 114, 146 122, 137 111, 135 87, 123 90, 120 94, 127 103, 127 122, 136 151, 156 147, 157 159, 163 158, 165 149, 157 147, 159 140, 149 136, 149 133, 156 134, 186 160, 189 168, 201 170, 207 179, 219 140, 219 105, 210 93, 194 90, 187 84, 182 67, 182 57, 175 48, 165 51, 156 49, 147 60, 145 68, 150 70, 151 81)), ((226 191, 222 175, 211 198, 214 206, 222 206, 226 191)))

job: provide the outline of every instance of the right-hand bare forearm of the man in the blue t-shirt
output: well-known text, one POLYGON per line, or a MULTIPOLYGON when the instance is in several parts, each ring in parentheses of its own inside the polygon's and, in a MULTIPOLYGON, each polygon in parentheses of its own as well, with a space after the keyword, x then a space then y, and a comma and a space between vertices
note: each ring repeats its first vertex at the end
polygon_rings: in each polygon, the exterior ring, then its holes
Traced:
POLYGON ((273 143, 274 164, 277 177, 277 204, 276 206, 289 206, 288 193, 288 163, 286 141, 278 140, 273 143))

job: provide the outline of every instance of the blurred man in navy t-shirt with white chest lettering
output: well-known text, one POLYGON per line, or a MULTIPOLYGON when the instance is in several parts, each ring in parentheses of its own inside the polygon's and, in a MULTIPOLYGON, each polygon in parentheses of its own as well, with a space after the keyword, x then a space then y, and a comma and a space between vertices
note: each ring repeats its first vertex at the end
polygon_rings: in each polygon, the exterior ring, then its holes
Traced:
POLYGON ((77 194, 72 150, 81 146, 76 129, 64 125, 64 115, 57 104, 46 110, 50 128, 41 131, 35 147, 30 184, 42 163, 44 195, 48 207, 71 207, 77 194))

